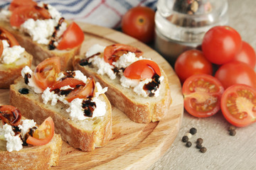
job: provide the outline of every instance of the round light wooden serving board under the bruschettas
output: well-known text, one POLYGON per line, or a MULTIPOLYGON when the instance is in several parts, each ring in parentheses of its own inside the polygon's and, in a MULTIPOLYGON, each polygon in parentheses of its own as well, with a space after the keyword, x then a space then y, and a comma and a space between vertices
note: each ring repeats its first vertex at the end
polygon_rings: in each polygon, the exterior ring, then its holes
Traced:
MULTIPOLYGON (((138 47, 144 57, 157 62, 166 72, 171 88, 169 114, 156 123, 139 124, 112 107, 112 140, 92 152, 82 152, 63 142, 58 166, 52 169, 146 169, 163 155, 178 134, 183 116, 181 84, 174 70, 161 55, 142 42, 110 28, 78 23, 85 33, 80 54, 98 43, 123 43, 138 47)), ((0 89, 0 104, 9 104, 9 90, 0 89)))

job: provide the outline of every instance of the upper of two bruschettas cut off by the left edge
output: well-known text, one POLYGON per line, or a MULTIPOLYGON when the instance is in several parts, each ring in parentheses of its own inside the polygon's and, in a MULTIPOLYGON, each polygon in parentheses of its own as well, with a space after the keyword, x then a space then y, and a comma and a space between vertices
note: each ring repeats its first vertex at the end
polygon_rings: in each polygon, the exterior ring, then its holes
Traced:
POLYGON ((0 88, 8 89, 21 69, 31 66, 32 55, 21 47, 9 31, 0 28, 0 88))

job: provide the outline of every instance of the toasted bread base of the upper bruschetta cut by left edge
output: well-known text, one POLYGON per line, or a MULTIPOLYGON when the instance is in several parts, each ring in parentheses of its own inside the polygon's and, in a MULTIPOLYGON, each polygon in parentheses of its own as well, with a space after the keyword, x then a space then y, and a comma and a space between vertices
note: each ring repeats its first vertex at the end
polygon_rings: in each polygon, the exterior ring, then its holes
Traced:
POLYGON ((8 89, 14 83, 14 79, 21 76, 21 69, 26 65, 31 67, 32 55, 23 52, 21 58, 11 64, 0 63, 0 88, 8 89))

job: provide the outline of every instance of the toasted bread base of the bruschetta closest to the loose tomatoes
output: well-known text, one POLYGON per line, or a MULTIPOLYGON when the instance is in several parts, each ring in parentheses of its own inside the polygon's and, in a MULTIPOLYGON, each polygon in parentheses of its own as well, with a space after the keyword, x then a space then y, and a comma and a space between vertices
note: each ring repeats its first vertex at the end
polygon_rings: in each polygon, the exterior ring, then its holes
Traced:
POLYGON ((132 89, 124 88, 119 83, 119 77, 112 80, 107 75, 97 74, 97 69, 90 67, 90 65, 81 66, 79 63, 82 59, 85 57, 74 57, 74 69, 80 70, 87 77, 94 77, 95 81, 100 82, 102 87, 107 86, 106 96, 110 103, 123 111, 132 121, 136 123, 156 122, 168 112, 171 104, 170 88, 166 74, 162 69, 161 75, 164 76, 164 81, 161 83, 159 96, 145 98, 135 94, 132 89))

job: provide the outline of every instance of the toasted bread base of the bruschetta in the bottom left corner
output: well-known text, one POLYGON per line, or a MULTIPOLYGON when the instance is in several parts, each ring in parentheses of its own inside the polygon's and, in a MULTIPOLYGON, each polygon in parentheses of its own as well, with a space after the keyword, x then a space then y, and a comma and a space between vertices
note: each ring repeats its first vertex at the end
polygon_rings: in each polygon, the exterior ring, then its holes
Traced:
POLYGON ((54 134, 46 145, 8 152, 6 141, 0 140, 0 169, 50 169, 50 166, 58 166, 62 143, 60 135, 54 134))

